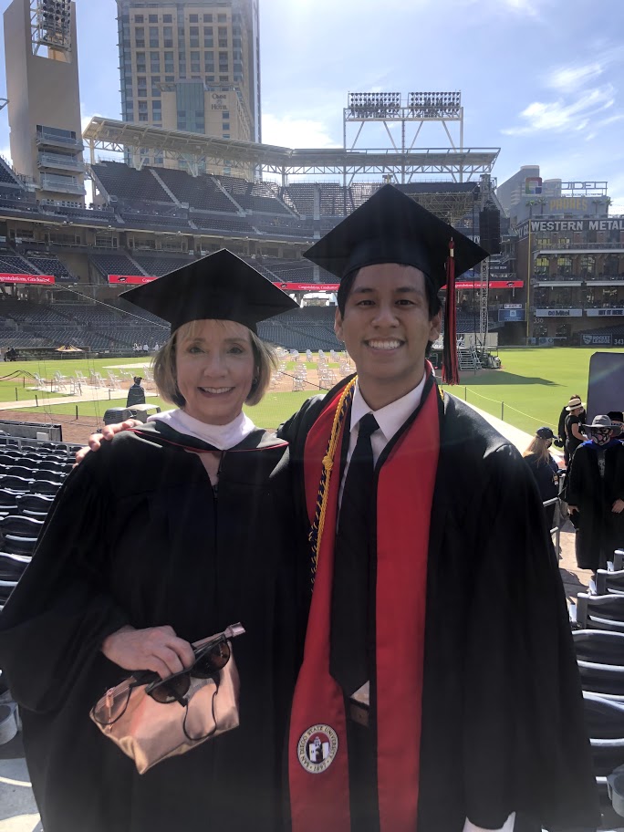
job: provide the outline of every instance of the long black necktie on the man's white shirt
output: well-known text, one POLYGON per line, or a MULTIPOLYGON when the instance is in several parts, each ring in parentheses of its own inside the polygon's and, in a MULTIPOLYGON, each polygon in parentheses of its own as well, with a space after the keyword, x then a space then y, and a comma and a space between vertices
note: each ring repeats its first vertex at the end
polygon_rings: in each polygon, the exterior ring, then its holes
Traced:
POLYGON ((347 695, 369 680, 370 530, 374 528, 370 518, 375 511, 370 434, 379 427, 372 413, 359 421, 338 517, 329 672, 347 695))

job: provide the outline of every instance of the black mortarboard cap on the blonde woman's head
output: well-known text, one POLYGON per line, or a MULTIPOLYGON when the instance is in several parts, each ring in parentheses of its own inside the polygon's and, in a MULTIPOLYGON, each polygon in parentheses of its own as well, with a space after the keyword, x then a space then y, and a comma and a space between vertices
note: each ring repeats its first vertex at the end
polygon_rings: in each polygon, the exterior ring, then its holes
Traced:
POLYGON ((296 301, 226 248, 120 297, 167 320, 172 332, 192 320, 258 321, 298 308, 296 301))

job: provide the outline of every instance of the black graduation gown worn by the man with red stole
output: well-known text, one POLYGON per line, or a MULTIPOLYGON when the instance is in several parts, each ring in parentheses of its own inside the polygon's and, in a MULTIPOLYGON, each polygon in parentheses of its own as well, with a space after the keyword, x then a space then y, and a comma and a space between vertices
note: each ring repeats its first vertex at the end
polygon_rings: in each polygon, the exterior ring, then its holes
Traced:
MULTIPOLYGON (((307 432, 347 381, 308 400, 279 432, 290 442, 302 525, 307 432)), ((418 832, 462 832, 466 817, 495 829, 513 811, 548 830, 594 829, 580 681, 535 481, 515 447, 462 401, 445 394, 439 412, 418 832)))

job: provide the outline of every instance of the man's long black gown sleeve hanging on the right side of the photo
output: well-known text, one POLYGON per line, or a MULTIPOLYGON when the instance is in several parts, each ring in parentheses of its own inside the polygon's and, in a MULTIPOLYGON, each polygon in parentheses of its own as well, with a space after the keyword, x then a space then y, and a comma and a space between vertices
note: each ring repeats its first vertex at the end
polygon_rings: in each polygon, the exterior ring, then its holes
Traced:
POLYGON ((486 465, 466 621, 466 814, 485 828, 512 811, 551 832, 595 828, 581 686, 543 507, 515 449, 499 448, 486 465))

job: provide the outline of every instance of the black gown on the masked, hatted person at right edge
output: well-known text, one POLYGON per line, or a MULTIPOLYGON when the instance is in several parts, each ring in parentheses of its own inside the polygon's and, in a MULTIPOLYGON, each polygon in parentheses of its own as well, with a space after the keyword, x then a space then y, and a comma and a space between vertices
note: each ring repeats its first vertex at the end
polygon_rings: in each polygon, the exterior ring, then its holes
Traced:
POLYGON ((576 505, 577 563, 579 569, 606 569, 615 549, 624 546, 624 512, 611 506, 624 500, 624 446, 617 440, 605 449, 605 475, 598 472, 593 442, 579 445, 567 473, 567 503, 576 505))

